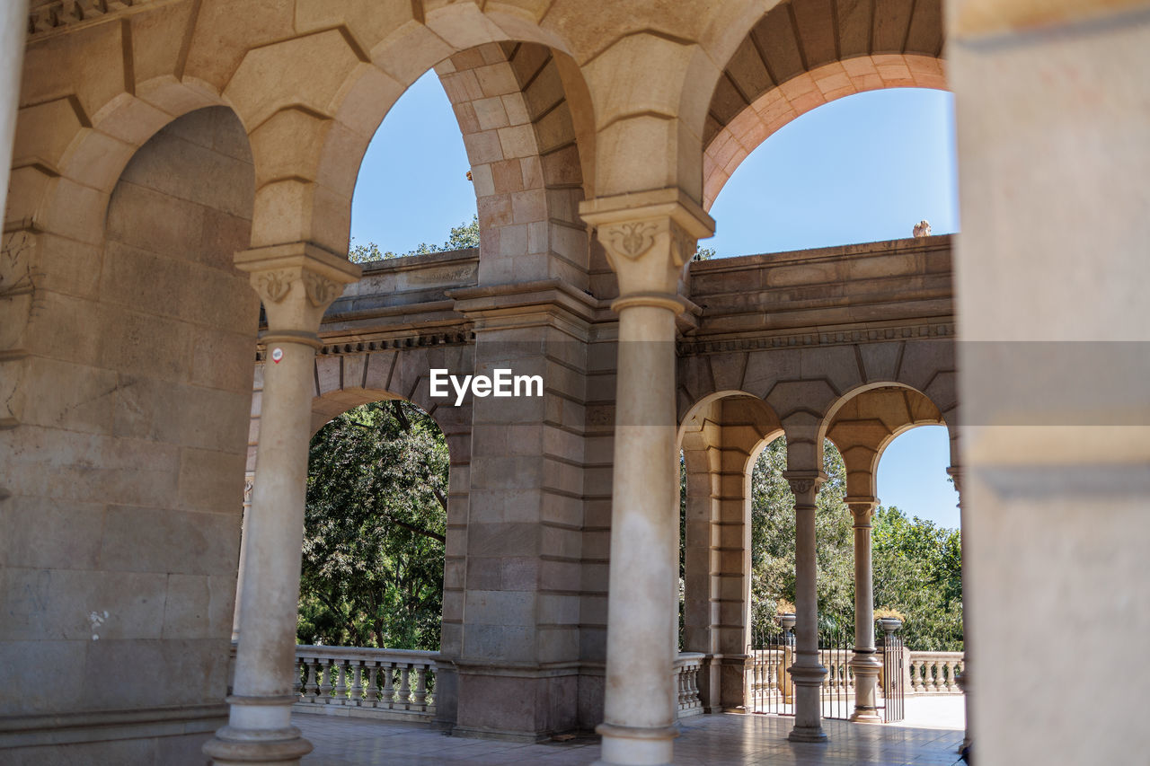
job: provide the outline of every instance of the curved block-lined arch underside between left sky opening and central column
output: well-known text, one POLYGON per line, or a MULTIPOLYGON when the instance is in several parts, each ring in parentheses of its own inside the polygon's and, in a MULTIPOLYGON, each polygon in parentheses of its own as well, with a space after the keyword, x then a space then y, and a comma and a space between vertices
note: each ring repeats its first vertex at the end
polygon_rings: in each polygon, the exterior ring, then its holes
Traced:
POLYGON ((593 151, 582 152, 593 146, 593 125, 567 97, 562 72, 573 67, 560 52, 511 41, 436 64, 471 163, 481 284, 589 286, 590 248, 577 210, 593 193, 593 151))

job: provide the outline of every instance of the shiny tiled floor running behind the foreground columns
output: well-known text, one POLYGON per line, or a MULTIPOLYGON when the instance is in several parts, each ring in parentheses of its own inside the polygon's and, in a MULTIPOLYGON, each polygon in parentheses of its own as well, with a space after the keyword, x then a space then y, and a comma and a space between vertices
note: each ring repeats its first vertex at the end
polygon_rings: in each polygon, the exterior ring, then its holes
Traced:
MULTIPOLYGON (((543 764, 574 766, 599 757, 597 737, 518 744, 445 736, 421 726, 328 715, 293 717, 315 751, 305 766, 376 764, 543 764)), ((954 729, 825 721, 823 744, 787 741, 792 719, 697 715, 681 722, 675 763, 683 766, 951 766, 963 733, 954 729)))

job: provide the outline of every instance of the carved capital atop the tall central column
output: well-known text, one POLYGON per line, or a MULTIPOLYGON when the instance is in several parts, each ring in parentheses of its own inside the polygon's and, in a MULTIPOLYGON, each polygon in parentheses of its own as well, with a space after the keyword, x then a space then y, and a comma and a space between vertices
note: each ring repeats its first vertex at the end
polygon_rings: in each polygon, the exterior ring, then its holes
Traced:
POLYGON ((595 227, 623 298, 673 299, 696 242, 714 233, 714 220, 677 187, 584 200, 580 215, 595 227))

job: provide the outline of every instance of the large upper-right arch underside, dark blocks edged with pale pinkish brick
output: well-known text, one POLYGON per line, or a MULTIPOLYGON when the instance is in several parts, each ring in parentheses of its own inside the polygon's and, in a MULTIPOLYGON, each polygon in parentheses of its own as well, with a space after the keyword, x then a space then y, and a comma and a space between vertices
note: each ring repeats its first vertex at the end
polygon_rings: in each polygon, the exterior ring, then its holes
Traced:
POLYGON ((946 89, 940 0, 785 0, 715 78, 703 129, 703 206, 768 136, 822 104, 883 87, 946 89))

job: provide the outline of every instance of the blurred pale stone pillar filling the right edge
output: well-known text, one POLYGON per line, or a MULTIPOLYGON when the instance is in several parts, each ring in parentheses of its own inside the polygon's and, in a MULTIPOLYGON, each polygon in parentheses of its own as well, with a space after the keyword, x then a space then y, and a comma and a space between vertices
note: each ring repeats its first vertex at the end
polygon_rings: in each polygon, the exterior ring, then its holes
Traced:
POLYGON ((946 12, 976 761, 1142 760, 1150 666, 1113 669, 1150 636, 1150 2, 946 12), (1018 676, 1067 630, 1097 651, 1018 676))

